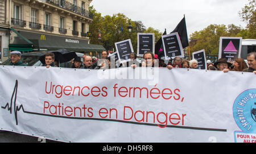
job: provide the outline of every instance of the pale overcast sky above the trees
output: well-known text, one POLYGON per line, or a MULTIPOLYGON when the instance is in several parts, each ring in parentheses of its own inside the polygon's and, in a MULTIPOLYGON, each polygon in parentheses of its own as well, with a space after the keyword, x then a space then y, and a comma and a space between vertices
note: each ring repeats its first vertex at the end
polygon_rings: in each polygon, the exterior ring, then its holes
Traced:
POLYGON ((127 18, 141 20, 146 28, 153 27, 160 32, 164 28, 169 34, 185 14, 188 37, 195 31, 203 30, 210 24, 235 24, 245 28, 238 11, 248 0, 93 0, 102 16, 123 13, 127 18))

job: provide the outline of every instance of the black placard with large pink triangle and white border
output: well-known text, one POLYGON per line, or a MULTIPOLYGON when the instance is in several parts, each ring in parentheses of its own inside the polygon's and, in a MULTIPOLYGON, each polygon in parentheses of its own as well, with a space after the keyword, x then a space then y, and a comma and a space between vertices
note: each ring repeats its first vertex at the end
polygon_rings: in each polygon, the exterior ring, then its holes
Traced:
POLYGON ((218 59, 226 58, 228 61, 241 57, 241 37, 220 37, 218 59))

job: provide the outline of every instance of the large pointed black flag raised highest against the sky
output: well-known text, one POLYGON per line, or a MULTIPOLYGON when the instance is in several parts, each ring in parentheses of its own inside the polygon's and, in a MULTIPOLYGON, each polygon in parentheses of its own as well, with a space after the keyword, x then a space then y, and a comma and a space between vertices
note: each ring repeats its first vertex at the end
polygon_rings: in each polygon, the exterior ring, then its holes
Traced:
POLYGON ((172 31, 171 33, 173 33, 173 32, 178 32, 178 34, 180 36, 180 41, 181 41, 182 47, 183 48, 188 47, 188 34, 187 34, 185 15, 184 15, 184 18, 177 25, 177 27, 174 29, 174 31, 172 31))

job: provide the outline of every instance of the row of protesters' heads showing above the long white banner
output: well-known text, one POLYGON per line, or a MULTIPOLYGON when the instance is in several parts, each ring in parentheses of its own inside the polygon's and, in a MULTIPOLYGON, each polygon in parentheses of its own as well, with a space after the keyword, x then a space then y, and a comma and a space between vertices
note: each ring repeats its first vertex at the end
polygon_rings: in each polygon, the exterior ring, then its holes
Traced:
MULTIPOLYGON (((108 52, 103 51, 101 53, 101 59, 97 59, 96 57, 91 57, 87 54, 82 56, 83 61, 81 61, 80 57, 75 57, 72 60, 72 68, 83 68, 83 69, 109 69, 111 67, 110 57, 108 57, 108 52)), ((10 65, 19 65, 19 66, 26 66, 26 64, 22 63, 20 60, 21 53, 19 51, 13 51, 10 53, 11 63, 10 65)), ((46 53, 44 56, 45 64, 49 68, 50 66, 58 66, 55 63, 55 55, 51 52, 46 53)), ((114 65, 115 68, 117 67, 127 67, 130 66, 131 68, 140 67, 166 67, 168 69, 172 68, 191 68, 197 69, 198 63, 196 59, 192 59, 188 61, 186 59, 182 59, 181 57, 175 57, 173 60, 171 59, 168 61, 168 64, 164 63, 164 60, 158 60, 158 56, 154 55, 152 52, 146 52, 143 55, 143 60, 138 61, 136 53, 130 54, 130 61, 127 63, 121 63, 118 65, 114 65)), ((234 61, 228 61, 225 58, 218 59, 216 63, 211 63, 211 61, 207 61, 207 69, 208 70, 221 70, 223 72, 229 72, 230 70, 233 71, 240 71, 240 72, 253 72, 256 74, 256 52, 250 52, 247 55, 247 64, 245 60, 239 58, 234 61)))

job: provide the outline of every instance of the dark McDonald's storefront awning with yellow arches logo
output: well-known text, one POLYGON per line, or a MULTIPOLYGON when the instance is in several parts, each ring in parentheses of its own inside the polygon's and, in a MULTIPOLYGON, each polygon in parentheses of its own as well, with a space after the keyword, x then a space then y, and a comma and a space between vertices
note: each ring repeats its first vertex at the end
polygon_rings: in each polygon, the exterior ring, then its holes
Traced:
POLYGON ((54 51, 65 48, 70 51, 100 56, 105 48, 102 45, 88 44, 88 39, 71 38, 70 36, 49 35, 38 32, 16 31, 10 36, 10 51, 54 51), (18 34, 17 34, 18 32, 18 34))

